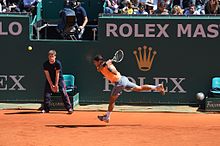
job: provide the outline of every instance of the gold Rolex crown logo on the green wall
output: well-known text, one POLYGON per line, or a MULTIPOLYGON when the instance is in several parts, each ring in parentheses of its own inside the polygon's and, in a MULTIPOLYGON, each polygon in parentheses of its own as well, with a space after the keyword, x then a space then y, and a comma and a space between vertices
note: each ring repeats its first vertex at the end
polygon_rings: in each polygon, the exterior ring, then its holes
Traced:
POLYGON ((135 50, 133 53, 137 60, 139 69, 142 71, 148 71, 151 69, 152 62, 157 52, 156 51, 152 52, 152 48, 148 47, 148 55, 147 55, 147 46, 143 46, 143 50, 144 50, 144 54, 142 54, 142 48, 138 47, 138 51, 135 50), (138 58, 138 54, 139 54, 139 58, 138 58))

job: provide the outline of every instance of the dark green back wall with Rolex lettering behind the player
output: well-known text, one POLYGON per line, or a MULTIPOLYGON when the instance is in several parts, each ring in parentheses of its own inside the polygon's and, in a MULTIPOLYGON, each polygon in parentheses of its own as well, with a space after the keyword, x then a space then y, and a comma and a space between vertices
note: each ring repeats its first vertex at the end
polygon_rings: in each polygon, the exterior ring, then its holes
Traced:
MULTIPOLYGON (((1 35, 1 70, 0 70, 0 101, 1 102, 39 102, 42 101, 44 74, 42 64, 47 59, 50 49, 57 50, 57 58, 63 64, 64 73, 71 73, 76 77, 76 85, 80 92, 81 103, 103 103, 108 102, 110 91, 106 91, 105 80, 100 75, 91 59, 96 54, 103 54, 111 58, 118 49, 123 49, 124 60, 116 64, 118 70, 126 76, 132 77, 137 84, 143 81, 147 84, 155 84, 155 81, 164 83, 167 92, 165 96, 153 92, 123 92, 118 102, 139 104, 195 104, 197 92, 208 92, 211 85, 211 77, 220 76, 219 70, 219 36, 215 38, 201 37, 203 26, 204 32, 213 36, 219 33, 218 28, 213 31, 207 29, 210 25, 218 24, 219 18, 213 17, 106 17, 99 20, 98 41, 62 41, 62 40, 29 40, 28 25, 29 17, 17 18, 15 16, 1 17, 3 28, 6 31, 8 23, 21 22, 23 31, 19 36, 1 35), (207 19, 208 18, 208 19, 207 19), (10 20, 10 21, 9 21, 10 20), (139 32, 130 37, 107 36, 107 24, 115 24, 117 27, 126 24, 128 26, 139 25, 139 32), (146 24, 158 24, 164 26, 169 24, 166 33, 169 37, 135 37, 137 34, 146 32, 146 24), (191 24, 193 33, 197 29, 196 37, 182 35, 176 37, 178 24, 191 24), (198 24, 200 28, 198 28, 198 24), (214 33, 215 32, 215 33, 214 33), (27 51, 31 45, 32 51, 27 51), (151 69, 142 71, 138 68, 134 50, 143 46, 152 47, 156 51, 151 69), (23 77, 24 76, 24 77, 23 77), (25 90, 15 84, 18 81, 25 90), (14 88, 12 88, 14 86, 14 88)), ((16 28, 15 28, 16 29, 16 28)), ((161 28, 160 28, 161 29, 161 28)), ((151 34, 160 32, 159 27, 151 34)), ((133 28, 135 30, 135 28, 133 28)), ((128 29, 121 30, 124 34, 128 29)), ((119 30, 116 30, 119 33, 119 30)), ((145 34, 146 35, 146 34, 145 34)), ((148 51, 146 52, 148 55, 148 51)), ((151 54, 152 56, 152 54, 151 54)), ((112 86, 109 86, 111 89, 112 86)))

